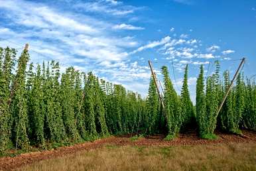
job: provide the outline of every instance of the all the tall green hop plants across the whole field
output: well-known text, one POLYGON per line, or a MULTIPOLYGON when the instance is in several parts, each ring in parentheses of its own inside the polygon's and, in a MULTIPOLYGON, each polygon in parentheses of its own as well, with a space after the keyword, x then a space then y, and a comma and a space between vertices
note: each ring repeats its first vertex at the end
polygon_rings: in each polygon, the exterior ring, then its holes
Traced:
POLYGON ((224 79, 220 76, 219 62, 206 81, 204 68, 200 67, 195 106, 188 91, 188 66, 180 95, 167 67, 162 66, 164 107, 153 76, 143 99, 92 72, 85 74, 70 67, 61 73, 58 62, 27 67, 28 62, 27 50, 17 60, 15 49, 0 48, 0 152, 127 133, 164 133, 166 139, 174 139, 191 125, 205 139, 216 138, 216 127, 229 133, 241 133, 241 127, 256 129, 256 86, 248 79, 245 82, 243 74, 237 77, 217 115, 230 84, 228 71, 224 79))

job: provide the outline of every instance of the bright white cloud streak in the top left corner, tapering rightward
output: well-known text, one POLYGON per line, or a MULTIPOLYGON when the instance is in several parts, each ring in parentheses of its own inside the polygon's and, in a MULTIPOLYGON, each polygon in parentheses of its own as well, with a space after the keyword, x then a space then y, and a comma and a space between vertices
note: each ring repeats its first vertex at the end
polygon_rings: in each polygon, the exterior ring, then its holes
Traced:
POLYGON ((58 13, 50 9, 49 7, 28 3, 26 1, 4 1, 0 3, 0 8, 10 11, 12 17, 14 16, 12 19, 17 24, 25 25, 26 27, 52 28, 52 26, 54 26, 80 32, 98 31, 96 28, 92 28, 89 23, 80 23, 71 17, 63 15, 63 13, 58 13), (27 13, 27 10, 17 6, 30 7, 30 13, 27 13))

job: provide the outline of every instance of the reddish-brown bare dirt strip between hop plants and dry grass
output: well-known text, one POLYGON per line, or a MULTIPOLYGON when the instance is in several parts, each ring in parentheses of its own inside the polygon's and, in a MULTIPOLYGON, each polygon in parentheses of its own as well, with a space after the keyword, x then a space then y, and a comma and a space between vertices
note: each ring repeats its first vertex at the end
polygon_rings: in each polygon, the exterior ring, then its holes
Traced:
POLYGON ((247 143, 256 142, 256 133, 253 131, 243 131, 243 137, 237 135, 227 135, 224 133, 217 133, 219 139, 216 141, 207 141, 200 139, 196 136, 195 132, 180 134, 178 139, 174 141, 164 141, 163 135, 155 135, 139 139, 137 141, 131 141, 129 135, 123 137, 109 137, 106 139, 100 139, 94 142, 88 142, 83 144, 76 144, 74 146, 64 146, 57 148, 56 150, 45 150, 42 152, 29 152, 20 154, 15 157, 3 157, 0 158, 0 170, 12 170, 19 168, 25 164, 31 164, 40 160, 48 158, 56 158, 64 156, 66 154, 73 154, 81 150, 90 150, 99 148, 105 144, 115 145, 138 145, 138 146, 176 146, 176 145, 196 145, 196 144, 217 144, 217 143, 247 143))

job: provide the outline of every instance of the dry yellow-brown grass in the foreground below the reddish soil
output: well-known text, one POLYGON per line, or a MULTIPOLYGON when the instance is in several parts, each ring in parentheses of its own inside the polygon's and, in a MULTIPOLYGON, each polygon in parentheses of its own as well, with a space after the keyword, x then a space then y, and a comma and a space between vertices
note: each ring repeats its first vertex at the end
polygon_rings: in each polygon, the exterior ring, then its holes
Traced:
POLYGON ((105 145, 19 170, 256 170, 256 144, 105 145))

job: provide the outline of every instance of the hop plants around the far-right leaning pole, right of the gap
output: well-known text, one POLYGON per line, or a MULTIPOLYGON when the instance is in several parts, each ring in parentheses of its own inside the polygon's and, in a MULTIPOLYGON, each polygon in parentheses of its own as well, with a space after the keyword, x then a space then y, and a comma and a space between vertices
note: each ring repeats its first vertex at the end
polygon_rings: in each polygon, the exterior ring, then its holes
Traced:
POLYGON ((196 120, 199 135, 206 139, 215 139, 216 128, 227 133, 241 134, 240 128, 256 130, 256 86, 240 72, 235 85, 225 100, 218 114, 218 107, 231 84, 229 71, 220 76, 220 63, 216 61, 216 72, 206 79, 204 85, 204 68, 196 85, 196 120))

